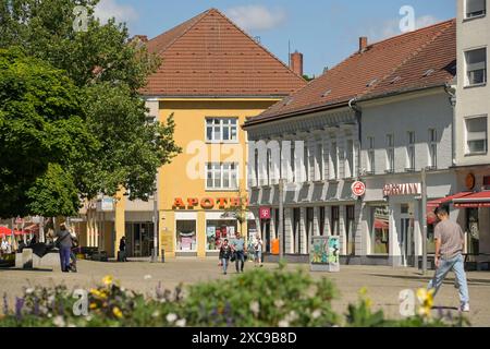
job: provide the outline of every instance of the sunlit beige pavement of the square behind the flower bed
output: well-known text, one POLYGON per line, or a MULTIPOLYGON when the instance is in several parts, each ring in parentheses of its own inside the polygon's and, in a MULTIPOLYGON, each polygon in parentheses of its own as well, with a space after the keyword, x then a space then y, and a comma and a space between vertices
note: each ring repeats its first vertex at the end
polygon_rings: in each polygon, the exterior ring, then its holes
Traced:
MULTIPOLYGON (((266 265, 274 268, 275 265, 266 265)), ((289 265, 287 268, 307 268, 305 265, 289 265)), ((254 268, 248 263, 246 268, 254 268)), ((234 277, 234 273, 223 276, 218 261, 180 258, 167 263, 99 263, 78 261, 77 274, 61 274, 50 270, 0 269, 0 296, 7 293, 10 302, 22 294, 23 287, 29 285, 54 285, 64 282, 69 288, 90 288, 100 282, 106 275, 113 275, 128 289, 145 293, 155 292, 161 281, 162 286, 173 289, 180 284, 188 285, 198 281, 234 277)), ((375 308, 383 309, 390 317, 400 317, 399 294, 403 289, 416 290, 425 287, 430 276, 422 277, 413 268, 391 268, 377 266, 342 266, 341 273, 314 273, 315 278, 331 278, 341 293, 341 299, 333 303, 334 310, 345 313, 347 304, 357 300, 360 288, 368 289, 368 296, 375 308)), ((469 320, 474 326, 490 327, 490 273, 468 273, 471 313, 469 320)), ((450 275, 436 299, 436 306, 451 310, 458 305, 457 290, 453 276, 450 275)))

